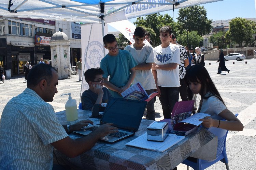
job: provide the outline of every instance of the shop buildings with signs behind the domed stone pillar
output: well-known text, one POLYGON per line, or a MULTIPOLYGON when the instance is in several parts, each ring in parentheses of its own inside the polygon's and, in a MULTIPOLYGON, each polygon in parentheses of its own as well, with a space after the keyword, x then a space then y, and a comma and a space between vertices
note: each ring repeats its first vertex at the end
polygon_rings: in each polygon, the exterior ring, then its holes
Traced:
POLYGON ((68 35, 71 66, 81 58, 81 27, 79 23, 27 18, 0 17, 0 65, 10 74, 24 74, 24 65, 32 66, 43 58, 51 61, 49 41, 55 32, 68 35))

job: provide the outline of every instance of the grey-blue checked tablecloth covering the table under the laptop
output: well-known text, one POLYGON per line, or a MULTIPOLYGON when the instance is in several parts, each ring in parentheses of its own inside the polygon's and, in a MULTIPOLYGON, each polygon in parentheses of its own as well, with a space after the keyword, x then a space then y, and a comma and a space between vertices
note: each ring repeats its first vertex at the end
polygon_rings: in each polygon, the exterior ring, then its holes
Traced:
MULTIPOLYGON (((90 111, 78 110, 79 120, 68 122, 65 111, 57 112, 61 124, 73 124, 83 119, 99 123, 100 119, 89 118, 90 111)), ((217 137, 205 129, 199 129, 190 133, 185 139, 175 144, 166 151, 160 153, 126 146, 125 144, 146 132, 151 120, 142 119, 140 128, 132 137, 110 144, 98 141, 95 146, 75 158, 68 158, 56 149, 54 150, 54 163, 76 167, 75 169, 173 169, 198 149, 206 147, 208 158, 216 157, 217 137), (208 147, 207 147, 208 146, 208 147), (209 147, 210 146, 210 147, 209 147), (56 161, 57 158, 57 161, 56 161)), ((80 135, 71 133, 72 139, 80 138, 80 135)), ((86 145, 86 143, 85 143, 86 145)))

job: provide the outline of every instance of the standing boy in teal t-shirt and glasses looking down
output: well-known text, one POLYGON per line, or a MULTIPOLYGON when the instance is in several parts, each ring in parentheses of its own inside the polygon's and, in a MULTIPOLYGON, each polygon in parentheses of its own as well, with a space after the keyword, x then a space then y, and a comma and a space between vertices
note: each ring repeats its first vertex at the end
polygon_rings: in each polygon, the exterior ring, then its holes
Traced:
POLYGON ((137 63, 128 51, 117 49, 117 41, 113 34, 105 35, 103 43, 109 50, 100 62, 100 68, 104 71, 104 86, 109 89, 112 97, 122 98, 121 93, 131 86, 135 77, 134 67, 137 63))

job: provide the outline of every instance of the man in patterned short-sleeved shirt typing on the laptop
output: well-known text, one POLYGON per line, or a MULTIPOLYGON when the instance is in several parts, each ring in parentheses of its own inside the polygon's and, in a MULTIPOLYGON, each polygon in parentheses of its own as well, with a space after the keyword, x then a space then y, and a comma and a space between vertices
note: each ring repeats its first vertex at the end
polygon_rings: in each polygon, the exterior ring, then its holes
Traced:
POLYGON ((57 71, 38 64, 28 74, 27 88, 6 104, 0 121, 0 169, 52 169, 53 147, 75 157, 100 137, 117 132, 109 123, 86 137, 71 139, 67 133, 93 122, 60 125, 53 106, 46 103, 53 101, 57 85, 57 71))

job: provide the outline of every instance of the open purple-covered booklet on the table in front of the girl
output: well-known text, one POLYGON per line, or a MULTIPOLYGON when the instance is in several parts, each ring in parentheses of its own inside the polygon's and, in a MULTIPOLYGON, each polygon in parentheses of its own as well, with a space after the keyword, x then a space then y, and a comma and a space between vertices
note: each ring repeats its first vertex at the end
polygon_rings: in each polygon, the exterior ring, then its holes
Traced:
POLYGON ((160 120, 162 122, 169 122, 169 133, 186 136, 197 129, 197 126, 202 123, 199 119, 205 116, 210 116, 204 113, 196 113, 191 116, 194 106, 194 100, 176 102, 171 119, 160 120))

